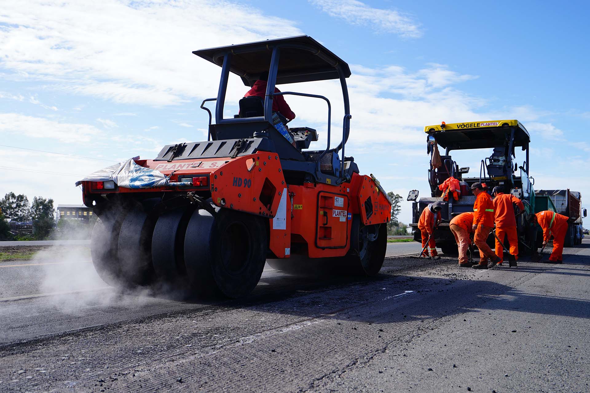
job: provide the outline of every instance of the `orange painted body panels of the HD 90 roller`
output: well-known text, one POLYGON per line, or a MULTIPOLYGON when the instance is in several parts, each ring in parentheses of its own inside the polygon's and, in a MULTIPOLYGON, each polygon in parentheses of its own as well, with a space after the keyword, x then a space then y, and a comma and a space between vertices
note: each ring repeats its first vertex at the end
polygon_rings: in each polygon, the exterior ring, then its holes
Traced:
POLYGON ((352 218, 363 225, 391 219, 391 203, 370 176, 353 173, 341 184, 287 184, 277 153, 259 152, 236 158, 136 160, 160 171, 171 183, 183 178, 207 176, 207 186, 165 186, 146 189, 115 187, 97 189, 83 181, 84 196, 104 193, 187 191, 225 209, 268 218, 268 249, 271 257, 289 258, 293 253, 310 258, 345 256, 350 249, 352 218))

